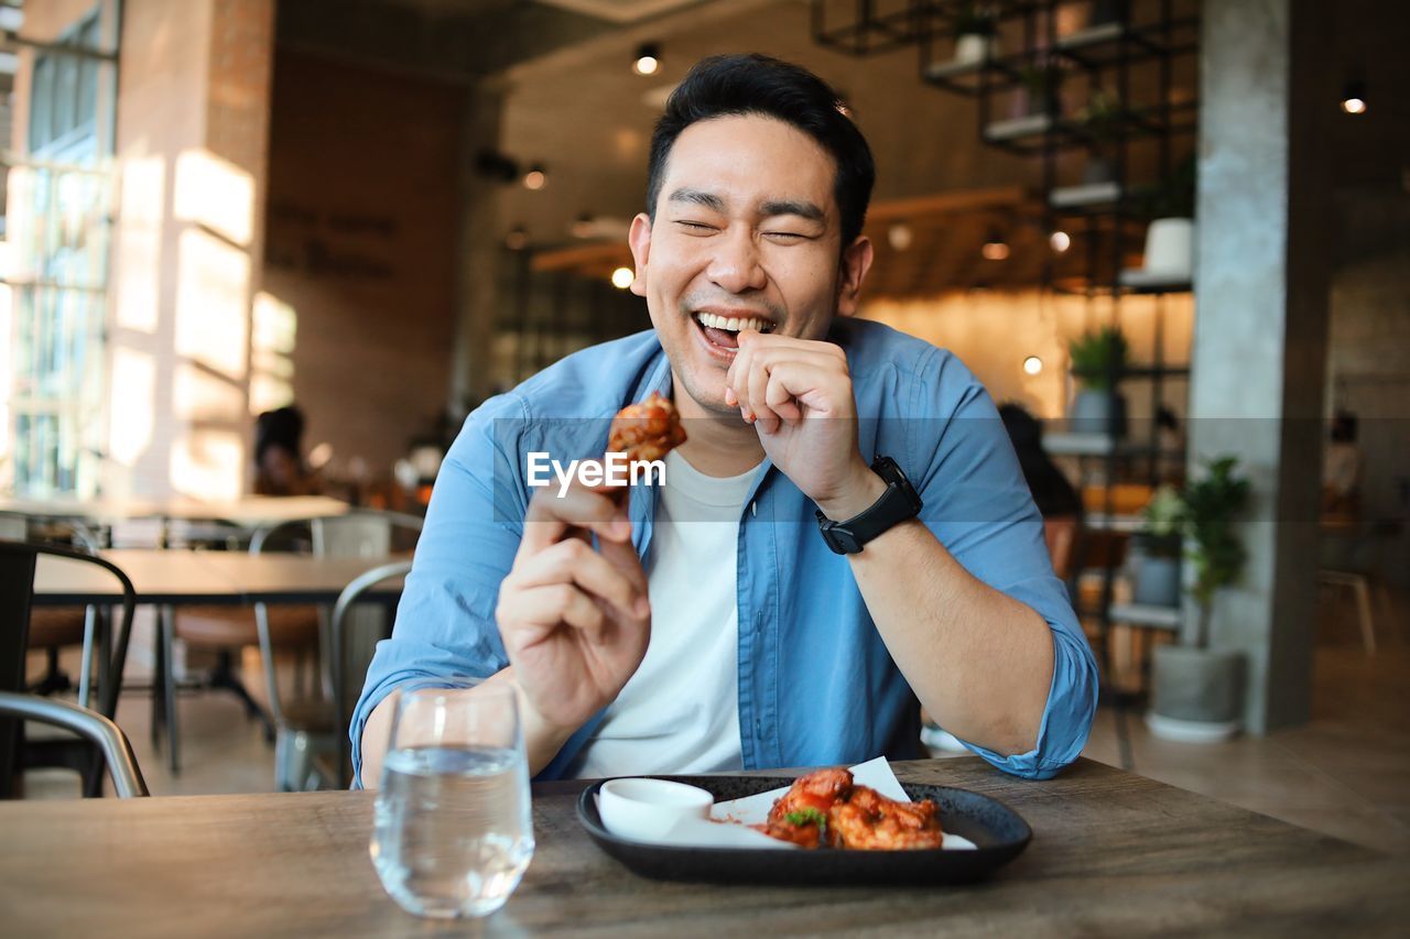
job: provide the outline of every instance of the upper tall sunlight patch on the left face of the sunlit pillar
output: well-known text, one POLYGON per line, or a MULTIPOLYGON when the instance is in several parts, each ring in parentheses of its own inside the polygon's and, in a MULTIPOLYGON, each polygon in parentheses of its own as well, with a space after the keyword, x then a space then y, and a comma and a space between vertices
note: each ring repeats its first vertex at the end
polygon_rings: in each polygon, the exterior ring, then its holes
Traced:
POLYGON ((161 156, 123 161, 123 197, 114 269, 120 329, 155 333, 162 278, 162 216, 166 165, 161 156))

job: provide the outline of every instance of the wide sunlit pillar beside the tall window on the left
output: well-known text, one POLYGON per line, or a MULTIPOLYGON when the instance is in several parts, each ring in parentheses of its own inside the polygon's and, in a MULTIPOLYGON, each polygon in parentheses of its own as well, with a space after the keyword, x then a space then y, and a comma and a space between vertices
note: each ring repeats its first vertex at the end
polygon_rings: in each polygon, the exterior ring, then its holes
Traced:
POLYGON ((274 0, 128 0, 117 99, 109 495, 250 474, 274 0))

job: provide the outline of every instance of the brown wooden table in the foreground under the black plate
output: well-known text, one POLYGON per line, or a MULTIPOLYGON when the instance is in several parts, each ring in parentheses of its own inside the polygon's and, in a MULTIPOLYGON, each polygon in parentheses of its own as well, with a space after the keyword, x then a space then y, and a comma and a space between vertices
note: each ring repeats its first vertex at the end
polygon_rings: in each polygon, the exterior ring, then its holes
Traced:
POLYGON ((537 850, 509 904, 441 925, 382 891, 367 792, 0 804, 0 909, 8 936, 1403 935, 1410 922, 1404 861, 1098 763, 1046 782, 976 757, 897 775, 994 795, 1034 842, 969 887, 651 881, 588 839, 581 784, 551 784, 536 790, 537 850))

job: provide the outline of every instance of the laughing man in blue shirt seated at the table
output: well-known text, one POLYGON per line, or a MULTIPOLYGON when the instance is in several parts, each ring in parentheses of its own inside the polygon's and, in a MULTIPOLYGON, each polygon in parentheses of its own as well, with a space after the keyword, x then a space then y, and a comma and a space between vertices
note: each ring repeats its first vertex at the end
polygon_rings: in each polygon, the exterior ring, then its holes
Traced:
POLYGON ((918 704, 1011 773, 1077 756, 1096 665, 993 403, 948 352, 847 319, 873 176, 811 73, 691 70, 632 223, 654 331, 467 420, 354 716, 364 784, 389 692, 457 674, 517 682, 544 778, 916 756, 918 704), (529 453, 601 455, 653 391, 688 430, 664 486, 623 508, 526 485, 529 453))

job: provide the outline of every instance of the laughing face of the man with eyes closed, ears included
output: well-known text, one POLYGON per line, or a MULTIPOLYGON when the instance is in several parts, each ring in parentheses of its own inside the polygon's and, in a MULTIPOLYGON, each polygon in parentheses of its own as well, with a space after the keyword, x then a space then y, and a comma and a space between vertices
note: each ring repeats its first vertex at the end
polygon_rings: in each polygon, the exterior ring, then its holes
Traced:
POLYGON ((632 221, 632 292, 647 300, 678 405, 684 391, 737 419, 725 372, 742 329, 818 340, 856 310, 871 247, 842 252, 836 172, 816 141, 770 117, 716 117, 675 138, 656 221, 632 221))

